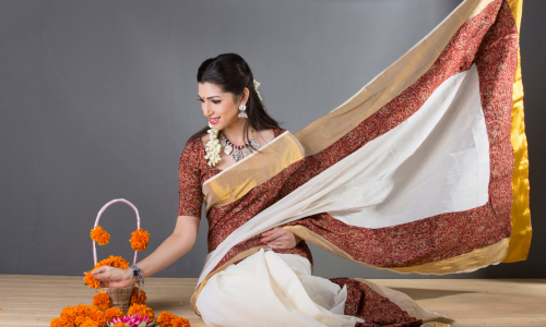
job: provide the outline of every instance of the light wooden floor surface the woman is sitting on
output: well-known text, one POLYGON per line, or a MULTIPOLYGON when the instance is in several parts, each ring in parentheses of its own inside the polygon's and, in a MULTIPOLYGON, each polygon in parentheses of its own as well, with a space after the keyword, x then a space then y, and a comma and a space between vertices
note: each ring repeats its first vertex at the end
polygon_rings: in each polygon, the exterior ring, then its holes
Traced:
MULTIPOLYGON (((546 279, 373 279, 419 305, 454 318, 456 327, 546 327, 546 279)), ((197 278, 150 278, 144 290, 156 314, 168 311, 206 326, 189 300, 197 278), (181 304, 181 305, 180 305, 181 304)), ((81 277, 0 275, 0 326, 49 326, 64 306, 91 304, 81 277)))

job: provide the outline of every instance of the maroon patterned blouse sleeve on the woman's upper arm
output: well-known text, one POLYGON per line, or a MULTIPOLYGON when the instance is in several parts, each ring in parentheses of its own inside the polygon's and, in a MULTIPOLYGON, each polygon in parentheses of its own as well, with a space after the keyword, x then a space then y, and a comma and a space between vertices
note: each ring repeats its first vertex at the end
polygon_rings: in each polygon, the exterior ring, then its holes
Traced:
MULTIPOLYGON (((201 142, 201 140, 198 140, 201 142)), ((198 167, 199 149, 195 141, 190 141, 180 156, 178 165, 178 216, 193 216, 201 219, 203 193, 201 191, 201 169, 198 167)))

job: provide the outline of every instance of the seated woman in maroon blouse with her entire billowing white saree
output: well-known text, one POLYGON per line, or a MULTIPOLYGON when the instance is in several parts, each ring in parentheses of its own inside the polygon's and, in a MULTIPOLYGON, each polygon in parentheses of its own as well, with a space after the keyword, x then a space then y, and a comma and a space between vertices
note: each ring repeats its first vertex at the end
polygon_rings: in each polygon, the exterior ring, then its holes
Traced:
MULTIPOLYGON (((524 257, 526 241, 511 240, 524 218, 511 211, 517 49, 506 1, 465 1, 296 135, 265 112, 239 56, 204 61, 199 100, 213 129, 182 152, 177 225, 139 263, 143 275, 191 249, 204 203, 210 253, 191 304, 209 325, 450 324, 369 281, 311 276, 306 242, 397 272, 472 271, 524 257)), ((518 201, 521 190, 514 184, 518 201)), ((94 275, 126 287, 132 272, 94 275)))

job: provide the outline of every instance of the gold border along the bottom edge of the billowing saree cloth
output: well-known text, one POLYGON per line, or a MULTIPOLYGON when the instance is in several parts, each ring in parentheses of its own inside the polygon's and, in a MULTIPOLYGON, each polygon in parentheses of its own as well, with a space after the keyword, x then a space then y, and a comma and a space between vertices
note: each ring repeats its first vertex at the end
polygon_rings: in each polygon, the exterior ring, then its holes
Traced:
POLYGON ((463 271, 473 271, 482 267, 486 267, 492 264, 498 264, 502 262, 502 259, 506 257, 507 252, 508 252, 508 245, 510 243, 510 238, 502 239, 501 241, 484 246, 484 247, 478 247, 475 249, 468 253, 446 258, 442 261, 438 262, 432 262, 428 264, 423 264, 423 265, 416 265, 416 266, 411 266, 411 267, 399 267, 399 268, 383 268, 383 267, 378 267, 375 265, 370 265, 367 263, 358 262, 355 261, 348 253, 344 252, 343 250, 339 249, 334 244, 332 244, 330 241, 327 239, 322 238, 321 235, 310 231, 306 227, 301 225, 296 225, 296 226, 285 226, 283 227, 284 229, 289 230, 292 233, 295 235, 299 237, 300 239, 305 240, 306 242, 309 242, 316 246, 319 246, 332 254, 335 254, 340 257, 346 258, 348 261, 352 261, 354 263, 358 263, 361 265, 365 265, 367 267, 371 267, 375 269, 385 269, 385 270, 391 270, 394 272, 399 274, 411 274, 411 272, 416 272, 416 274, 422 274, 422 275, 446 275, 446 274, 453 274, 453 272, 463 272, 463 271))

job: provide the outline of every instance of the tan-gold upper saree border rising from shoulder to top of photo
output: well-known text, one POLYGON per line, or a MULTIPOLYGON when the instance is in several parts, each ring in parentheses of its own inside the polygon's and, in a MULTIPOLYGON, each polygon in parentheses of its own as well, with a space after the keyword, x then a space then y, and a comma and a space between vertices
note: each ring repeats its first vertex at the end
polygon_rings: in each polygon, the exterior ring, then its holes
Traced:
POLYGON ((437 28, 353 97, 296 133, 306 156, 325 149, 413 85, 432 66, 455 32, 491 2, 467 0, 461 3, 437 28))

